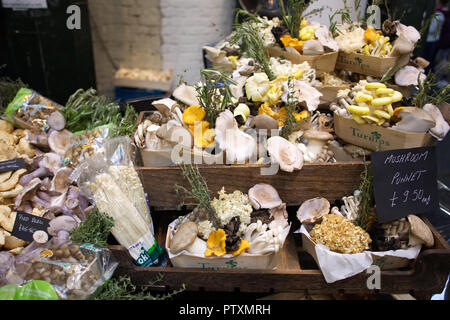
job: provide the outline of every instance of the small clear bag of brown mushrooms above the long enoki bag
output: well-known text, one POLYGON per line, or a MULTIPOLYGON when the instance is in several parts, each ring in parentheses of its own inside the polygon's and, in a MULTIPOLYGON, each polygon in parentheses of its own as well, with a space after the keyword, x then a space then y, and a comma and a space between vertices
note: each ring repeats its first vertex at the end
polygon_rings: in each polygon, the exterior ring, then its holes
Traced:
POLYGON ((106 125, 74 133, 64 155, 64 164, 75 168, 94 153, 103 152, 103 141, 108 137, 110 129, 110 125, 106 125))

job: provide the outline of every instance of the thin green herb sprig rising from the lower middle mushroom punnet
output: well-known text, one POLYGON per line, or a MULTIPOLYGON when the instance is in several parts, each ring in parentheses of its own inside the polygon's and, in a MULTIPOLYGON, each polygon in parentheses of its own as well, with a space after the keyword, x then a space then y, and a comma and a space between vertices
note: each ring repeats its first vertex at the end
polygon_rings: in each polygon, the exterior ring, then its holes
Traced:
MULTIPOLYGON (((204 208, 208 212, 209 221, 213 224, 215 228, 220 228, 220 220, 217 217, 216 210, 211 205, 212 193, 208 189, 205 179, 203 179, 197 167, 191 164, 186 165, 182 163, 180 165, 183 178, 187 180, 191 190, 186 189, 183 186, 175 185, 175 192, 177 195, 179 191, 183 191, 185 198, 193 198, 198 202, 198 208, 204 208)), ((188 205, 193 205, 193 203, 186 203, 188 205)))

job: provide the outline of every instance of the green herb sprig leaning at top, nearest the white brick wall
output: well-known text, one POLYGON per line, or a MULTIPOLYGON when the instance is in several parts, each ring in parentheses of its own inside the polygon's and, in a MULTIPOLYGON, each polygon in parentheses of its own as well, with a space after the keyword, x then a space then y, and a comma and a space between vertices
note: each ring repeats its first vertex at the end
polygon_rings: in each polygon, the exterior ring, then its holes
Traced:
POLYGON ((244 55, 254 59, 267 74, 270 80, 274 80, 275 74, 270 68, 269 58, 264 49, 264 43, 259 36, 258 26, 251 22, 235 24, 236 30, 231 37, 230 44, 240 45, 244 55))

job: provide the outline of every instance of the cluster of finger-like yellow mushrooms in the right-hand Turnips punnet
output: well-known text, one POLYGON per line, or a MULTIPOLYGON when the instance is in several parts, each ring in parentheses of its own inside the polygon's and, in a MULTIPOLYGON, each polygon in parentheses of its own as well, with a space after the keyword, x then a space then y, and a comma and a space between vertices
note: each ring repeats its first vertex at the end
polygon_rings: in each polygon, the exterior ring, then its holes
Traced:
POLYGON ((347 107, 353 119, 359 123, 385 124, 394 115, 392 104, 403 99, 403 95, 383 83, 361 85, 353 99, 355 104, 347 107))

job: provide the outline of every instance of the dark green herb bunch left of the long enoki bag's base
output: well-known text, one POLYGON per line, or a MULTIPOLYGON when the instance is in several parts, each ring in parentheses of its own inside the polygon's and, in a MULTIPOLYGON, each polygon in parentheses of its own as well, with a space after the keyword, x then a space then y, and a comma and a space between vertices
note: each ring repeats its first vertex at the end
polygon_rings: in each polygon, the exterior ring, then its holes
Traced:
POLYGON ((106 247, 113 226, 113 218, 94 209, 78 227, 70 232, 70 239, 78 243, 91 243, 99 247, 106 247))

